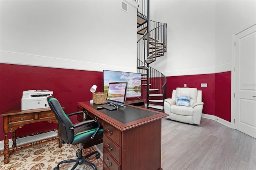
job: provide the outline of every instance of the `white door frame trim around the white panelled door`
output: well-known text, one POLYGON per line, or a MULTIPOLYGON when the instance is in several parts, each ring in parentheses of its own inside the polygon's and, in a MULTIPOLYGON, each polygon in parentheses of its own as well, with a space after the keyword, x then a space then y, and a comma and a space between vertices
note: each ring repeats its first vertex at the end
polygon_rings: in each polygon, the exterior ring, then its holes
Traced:
POLYGON ((232 33, 232 68, 231 68, 231 128, 235 128, 235 123, 234 123, 234 119, 235 119, 235 97, 234 97, 234 93, 235 93, 235 40, 236 40, 236 35, 239 34, 240 32, 243 32, 244 30, 247 30, 248 28, 252 27, 256 25, 256 21, 251 22, 250 24, 240 28, 239 30, 237 30, 236 32, 232 33))

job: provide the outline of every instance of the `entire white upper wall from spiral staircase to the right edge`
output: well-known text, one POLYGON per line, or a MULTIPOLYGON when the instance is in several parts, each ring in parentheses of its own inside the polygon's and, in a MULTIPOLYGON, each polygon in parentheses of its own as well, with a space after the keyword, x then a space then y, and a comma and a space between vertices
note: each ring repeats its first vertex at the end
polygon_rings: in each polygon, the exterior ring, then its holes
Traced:
POLYGON ((232 34, 256 21, 256 1, 152 0, 150 20, 167 23, 167 53, 151 65, 164 75, 230 71, 232 34))

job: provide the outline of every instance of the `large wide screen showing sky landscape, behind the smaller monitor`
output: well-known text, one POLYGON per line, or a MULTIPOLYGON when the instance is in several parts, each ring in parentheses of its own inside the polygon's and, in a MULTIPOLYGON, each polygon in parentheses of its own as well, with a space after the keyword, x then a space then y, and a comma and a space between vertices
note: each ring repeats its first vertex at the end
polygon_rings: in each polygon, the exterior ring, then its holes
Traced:
POLYGON ((122 71, 103 70, 103 91, 108 92, 111 82, 127 81, 126 97, 141 97, 141 74, 122 71))

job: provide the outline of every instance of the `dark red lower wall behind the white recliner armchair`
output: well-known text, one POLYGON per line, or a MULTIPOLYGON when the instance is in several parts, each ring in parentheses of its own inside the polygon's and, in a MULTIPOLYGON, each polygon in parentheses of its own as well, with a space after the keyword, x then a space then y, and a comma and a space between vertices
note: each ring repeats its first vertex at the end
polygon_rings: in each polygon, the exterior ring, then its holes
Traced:
POLYGON ((176 87, 194 87, 202 90, 203 113, 231 120, 231 71, 215 74, 167 77, 167 98, 176 87), (201 87, 207 83, 207 87, 201 87))

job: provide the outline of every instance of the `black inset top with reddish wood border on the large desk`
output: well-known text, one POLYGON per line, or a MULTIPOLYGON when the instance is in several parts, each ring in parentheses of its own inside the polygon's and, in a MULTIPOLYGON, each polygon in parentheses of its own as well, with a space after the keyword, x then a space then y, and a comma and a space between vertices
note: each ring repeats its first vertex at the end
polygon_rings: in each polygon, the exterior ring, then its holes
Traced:
POLYGON ((89 102, 79 102, 78 105, 84 107, 105 122, 118 126, 120 130, 168 116, 166 113, 130 105, 126 105, 126 107, 120 106, 117 110, 112 111, 107 109, 97 110, 96 108, 100 105, 89 102))

